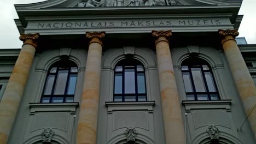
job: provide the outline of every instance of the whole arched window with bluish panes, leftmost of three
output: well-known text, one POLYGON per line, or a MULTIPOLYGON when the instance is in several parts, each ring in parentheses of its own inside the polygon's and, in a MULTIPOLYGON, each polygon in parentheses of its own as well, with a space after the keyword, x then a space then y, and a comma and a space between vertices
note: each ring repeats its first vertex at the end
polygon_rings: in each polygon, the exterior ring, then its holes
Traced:
POLYGON ((41 103, 72 103, 77 73, 77 65, 72 61, 58 61, 51 65, 41 103))

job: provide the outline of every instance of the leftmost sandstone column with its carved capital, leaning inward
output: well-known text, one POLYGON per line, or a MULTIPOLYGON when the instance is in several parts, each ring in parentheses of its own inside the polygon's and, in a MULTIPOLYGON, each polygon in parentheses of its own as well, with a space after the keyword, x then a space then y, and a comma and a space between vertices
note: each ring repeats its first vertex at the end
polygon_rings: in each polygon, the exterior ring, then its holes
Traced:
POLYGON ((3 98, 0 103, 0 143, 8 141, 20 100, 24 92, 28 74, 36 52, 39 34, 21 34, 20 40, 24 41, 19 57, 14 65, 3 98))

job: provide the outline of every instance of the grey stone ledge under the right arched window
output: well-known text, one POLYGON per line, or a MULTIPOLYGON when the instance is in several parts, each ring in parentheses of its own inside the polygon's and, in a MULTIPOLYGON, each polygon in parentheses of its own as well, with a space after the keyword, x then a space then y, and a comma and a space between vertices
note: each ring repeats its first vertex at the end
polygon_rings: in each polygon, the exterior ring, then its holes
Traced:
POLYGON ((185 106, 186 112, 200 109, 225 109, 231 111, 231 100, 183 100, 182 105, 185 106))

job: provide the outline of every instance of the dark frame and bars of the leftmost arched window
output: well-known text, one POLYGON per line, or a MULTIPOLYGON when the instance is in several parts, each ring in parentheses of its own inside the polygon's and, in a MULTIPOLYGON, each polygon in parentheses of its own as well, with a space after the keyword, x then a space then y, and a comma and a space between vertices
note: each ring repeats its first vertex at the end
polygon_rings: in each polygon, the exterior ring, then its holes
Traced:
POLYGON ((76 89, 77 80, 78 80, 77 78, 78 78, 78 67, 73 61, 67 60, 67 61, 57 61, 57 62, 55 62, 53 65, 51 65, 51 67, 48 70, 48 73, 47 73, 47 76, 46 76, 46 79, 45 79, 45 83, 44 83, 42 97, 40 98, 40 103, 44 103, 43 98, 50 98, 48 103, 73 103, 74 102, 75 89, 76 89), (51 73, 51 69, 53 69, 53 68, 56 68, 55 73, 51 73), (77 71, 76 72, 71 72, 72 68, 77 68, 77 71), (64 94, 54 94, 59 71, 65 71, 65 70, 68 70, 68 73, 67 73, 67 80, 66 80, 64 94), (45 88, 46 88, 46 85, 47 85, 47 81, 48 81, 48 77, 50 75, 54 75, 54 81, 53 81, 53 86, 51 88, 51 93, 50 94, 44 94, 45 88), (69 82, 70 82, 70 79, 71 79, 71 75, 76 75, 75 86, 74 86, 74 94, 67 94, 68 85, 69 85, 69 82), (66 102, 66 99, 71 98, 71 97, 73 98, 73 101, 66 102), (53 98, 63 98, 63 99, 62 99, 62 102, 53 102, 53 98))

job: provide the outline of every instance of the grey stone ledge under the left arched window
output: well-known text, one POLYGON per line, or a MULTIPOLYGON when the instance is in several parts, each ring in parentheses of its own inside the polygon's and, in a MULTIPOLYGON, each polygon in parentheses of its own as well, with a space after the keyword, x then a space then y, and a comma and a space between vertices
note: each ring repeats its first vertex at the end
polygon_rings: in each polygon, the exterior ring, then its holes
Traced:
POLYGON ((55 112, 55 111, 68 111, 72 115, 75 114, 75 109, 78 103, 29 103, 30 115, 36 112, 55 112))

